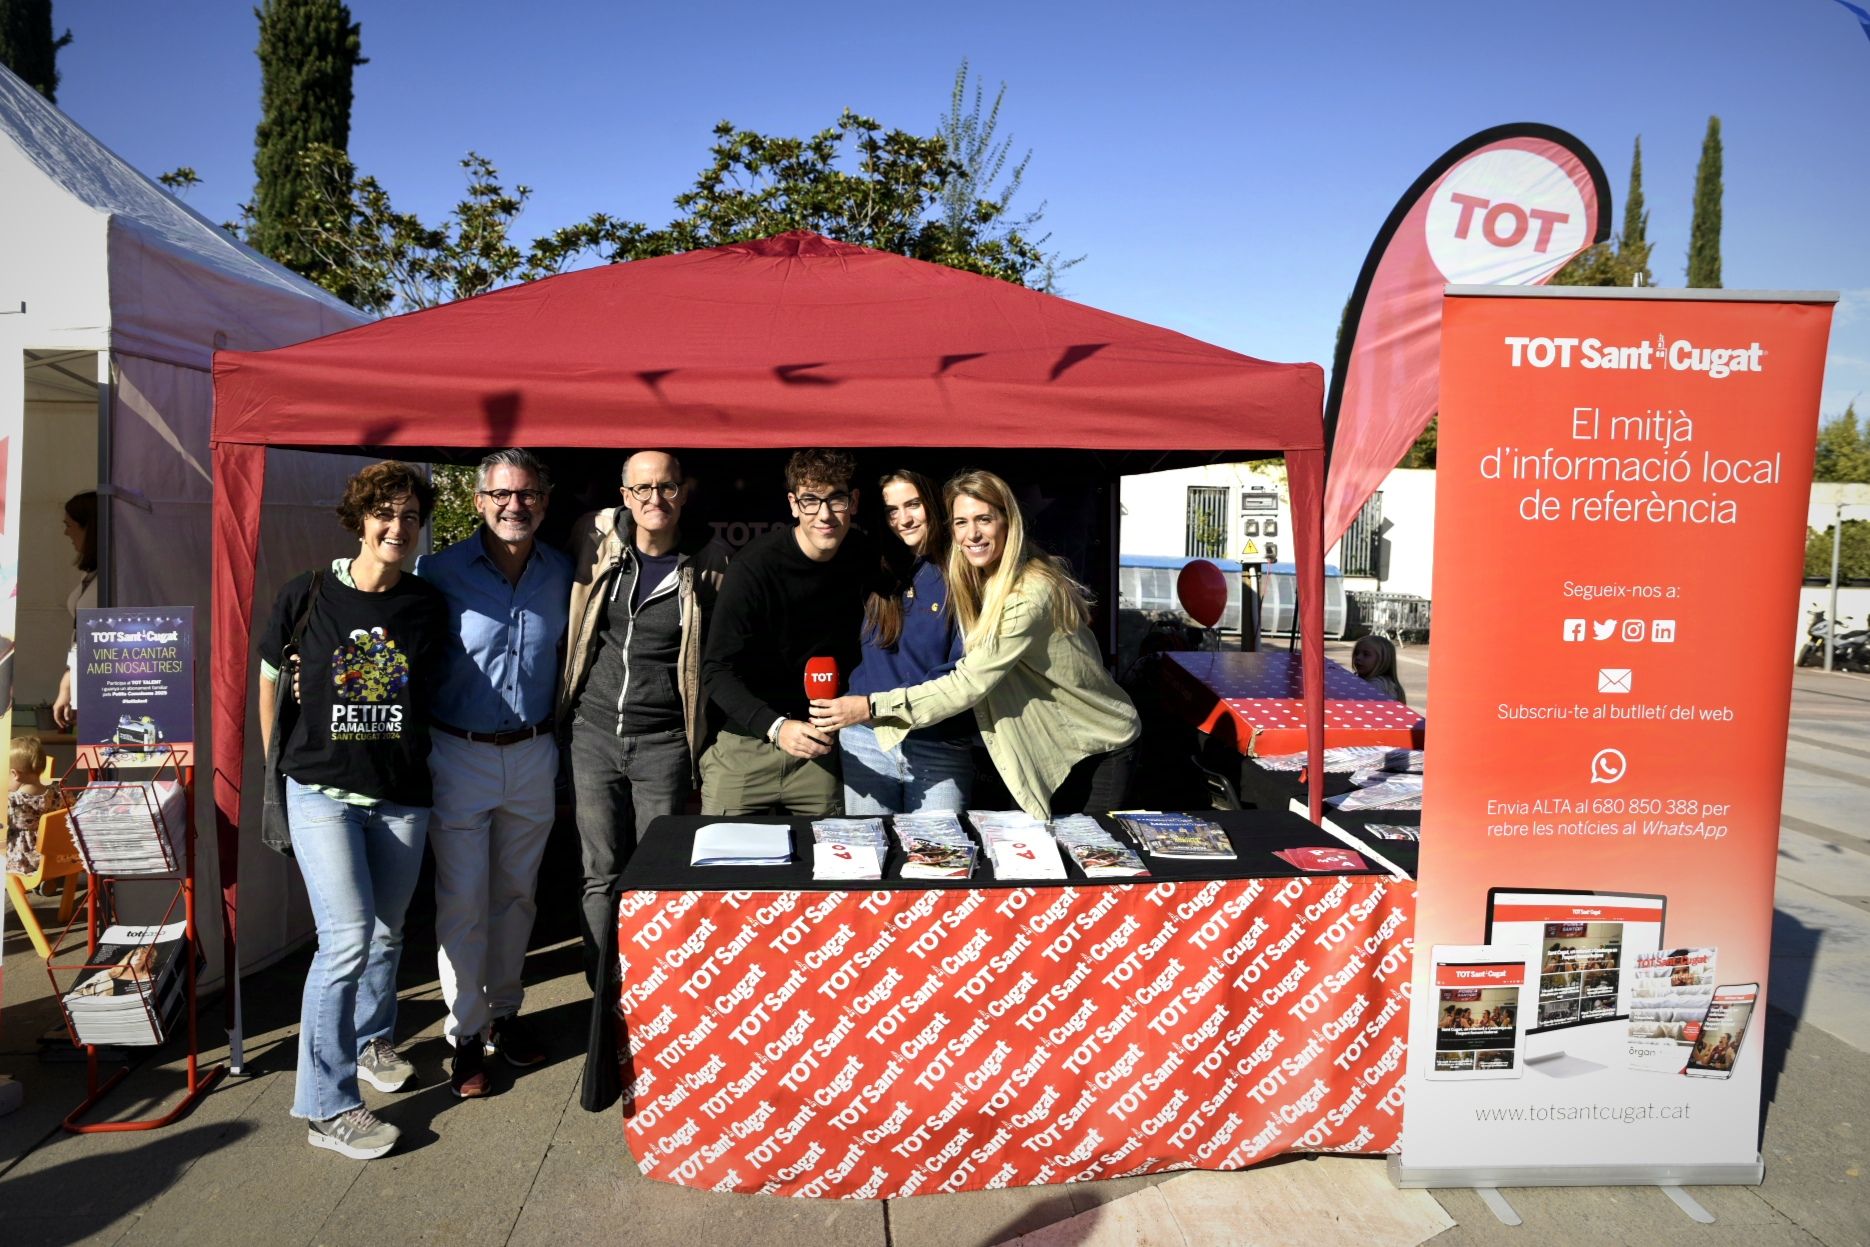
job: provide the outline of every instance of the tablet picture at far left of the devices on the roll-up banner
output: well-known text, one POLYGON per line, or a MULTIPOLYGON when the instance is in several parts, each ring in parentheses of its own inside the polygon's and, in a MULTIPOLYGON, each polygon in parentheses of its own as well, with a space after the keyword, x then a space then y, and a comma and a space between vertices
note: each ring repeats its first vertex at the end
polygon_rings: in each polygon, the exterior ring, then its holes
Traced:
POLYGON ((1530 957, 1522 944, 1434 948, 1434 1064, 1423 1077, 1470 1082, 1524 1073, 1530 957))

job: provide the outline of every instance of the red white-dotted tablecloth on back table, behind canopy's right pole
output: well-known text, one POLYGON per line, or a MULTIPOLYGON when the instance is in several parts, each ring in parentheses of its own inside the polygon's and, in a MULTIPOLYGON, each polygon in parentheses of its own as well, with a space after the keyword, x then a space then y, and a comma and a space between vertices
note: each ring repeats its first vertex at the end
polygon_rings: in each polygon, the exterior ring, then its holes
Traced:
MULTIPOLYGON (((1169 697, 1204 733, 1221 731, 1242 755, 1298 753, 1305 748, 1305 703, 1300 654, 1191 652, 1165 654, 1169 697)), ((1324 742, 1423 748, 1427 724, 1401 701, 1373 695, 1369 684, 1324 660, 1324 742)))

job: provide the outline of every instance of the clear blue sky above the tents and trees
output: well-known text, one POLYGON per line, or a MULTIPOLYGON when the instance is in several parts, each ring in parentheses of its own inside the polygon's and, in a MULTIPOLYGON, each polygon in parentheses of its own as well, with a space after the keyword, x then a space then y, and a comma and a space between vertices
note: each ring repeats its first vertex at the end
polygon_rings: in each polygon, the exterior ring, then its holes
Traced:
MULTIPOLYGON (((1833 0, 699 9, 352 0, 352 155, 439 217, 471 148, 535 187, 531 237, 593 211, 666 222, 722 118, 843 107, 933 131, 961 58, 1006 82, 1021 202, 1085 262, 1064 294, 1264 359, 1330 365, 1397 196, 1502 122, 1575 133, 1621 213, 1642 135, 1657 284, 1683 280, 1694 165, 1724 133, 1728 288, 1838 290, 1825 411, 1870 396, 1870 39, 1833 0)), ((252 187, 251 6, 73 4, 60 107, 148 174, 191 165, 215 221, 252 187)), ((1870 413, 1870 411, 1866 411, 1870 413)))

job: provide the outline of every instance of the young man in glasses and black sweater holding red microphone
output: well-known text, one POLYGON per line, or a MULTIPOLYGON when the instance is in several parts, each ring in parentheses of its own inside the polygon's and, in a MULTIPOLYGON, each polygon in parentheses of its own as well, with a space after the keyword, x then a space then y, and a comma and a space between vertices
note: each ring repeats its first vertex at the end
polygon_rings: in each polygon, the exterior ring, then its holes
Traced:
POLYGON ((855 471, 843 451, 793 454, 785 501, 797 523, 755 538, 727 568, 701 660, 701 682, 724 716, 701 755, 701 813, 843 808, 838 742, 808 722, 804 673, 812 658, 834 658, 842 690, 856 667, 875 568, 862 542, 845 540, 855 471))

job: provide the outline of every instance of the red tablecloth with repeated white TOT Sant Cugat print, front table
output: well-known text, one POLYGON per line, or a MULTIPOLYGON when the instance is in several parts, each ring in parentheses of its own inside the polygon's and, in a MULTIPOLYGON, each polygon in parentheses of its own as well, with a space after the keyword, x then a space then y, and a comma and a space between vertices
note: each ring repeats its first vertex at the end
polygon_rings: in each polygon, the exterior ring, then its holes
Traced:
POLYGON ((898 1198, 1397 1142, 1414 884, 625 892, 651 1178, 898 1198))

